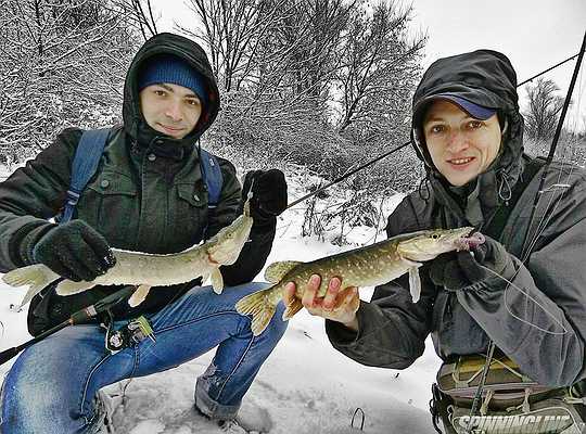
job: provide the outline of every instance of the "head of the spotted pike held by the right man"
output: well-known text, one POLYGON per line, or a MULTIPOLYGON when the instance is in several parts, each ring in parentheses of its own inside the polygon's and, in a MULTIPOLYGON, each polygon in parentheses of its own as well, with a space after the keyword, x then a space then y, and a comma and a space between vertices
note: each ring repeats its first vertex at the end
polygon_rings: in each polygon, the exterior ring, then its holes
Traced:
POLYGON ((399 240, 398 254, 409 260, 431 260, 442 253, 469 250, 474 228, 434 229, 416 232, 399 240))

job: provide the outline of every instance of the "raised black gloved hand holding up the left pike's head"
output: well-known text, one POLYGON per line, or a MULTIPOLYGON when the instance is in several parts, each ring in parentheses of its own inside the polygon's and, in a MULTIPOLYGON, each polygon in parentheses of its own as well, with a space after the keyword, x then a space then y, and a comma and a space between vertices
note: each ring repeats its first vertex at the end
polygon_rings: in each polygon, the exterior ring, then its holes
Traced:
POLYGON ((267 221, 286 208, 286 181, 279 169, 251 170, 244 177, 242 202, 253 191, 251 215, 255 222, 267 221), (254 182, 253 182, 254 181, 254 182))

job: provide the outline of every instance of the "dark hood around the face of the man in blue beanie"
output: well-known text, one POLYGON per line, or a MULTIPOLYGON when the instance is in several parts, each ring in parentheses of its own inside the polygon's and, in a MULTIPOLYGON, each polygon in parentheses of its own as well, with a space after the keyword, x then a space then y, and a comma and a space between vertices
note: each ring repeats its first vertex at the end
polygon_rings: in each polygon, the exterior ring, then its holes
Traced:
MULTIPOLYGON (((220 99, 212 66, 204 50, 194 41, 179 35, 163 33, 153 36, 140 48, 130 63, 124 84, 123 118, 126 132, 141 146, 175 148, 177 151, 190 149, 209 128, 218 115, 220 99), (138 74, 149 59, 160 54, 173 54, 198 71, 205 81, 207 104, 204 105, 200 120, 193 131, 182 139, 174 139, 151 128, 140 110, 138 74)), ((182 154, 182 152, 180 153, 182 154)))

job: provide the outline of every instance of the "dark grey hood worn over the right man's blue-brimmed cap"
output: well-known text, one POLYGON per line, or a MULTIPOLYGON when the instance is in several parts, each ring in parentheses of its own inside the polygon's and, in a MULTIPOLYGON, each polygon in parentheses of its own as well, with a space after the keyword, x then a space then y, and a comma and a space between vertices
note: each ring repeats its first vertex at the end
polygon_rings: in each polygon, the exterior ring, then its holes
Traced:
MULTIPOLYGON (((421 122, 425 107, 441 95, 463 98, 475 104, 494 108, 506 123, 500 152, 479 181, 492 191, 487 205, 495 206, 498 197, 506 200, 523 170, 523 117, 519 113, 517 74, 509 59, 497 51, 476 50, 435 61, 423 74, 412 101, 411 143, 425 164, 432 184, 438 187, 444 177, 434 167, 426 151, 421 122)), ((471 181, 475 182, 475 180, 471 181)))

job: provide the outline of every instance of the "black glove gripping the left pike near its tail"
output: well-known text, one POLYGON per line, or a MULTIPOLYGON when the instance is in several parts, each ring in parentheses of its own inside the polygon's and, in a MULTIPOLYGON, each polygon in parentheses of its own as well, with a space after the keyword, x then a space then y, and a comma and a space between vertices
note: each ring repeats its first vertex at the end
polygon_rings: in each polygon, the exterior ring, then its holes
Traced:
POLYGON ((47 232, 33 248, 31 259, 76 282, 92 281, 116 264, 105 238, 82 220, 47 232))

